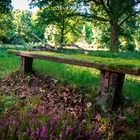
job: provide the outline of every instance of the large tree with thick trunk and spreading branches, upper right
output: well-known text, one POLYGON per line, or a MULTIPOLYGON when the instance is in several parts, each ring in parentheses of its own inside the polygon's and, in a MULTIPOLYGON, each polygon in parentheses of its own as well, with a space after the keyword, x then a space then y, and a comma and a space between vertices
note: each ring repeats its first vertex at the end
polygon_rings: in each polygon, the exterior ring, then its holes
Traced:
POLYGON ((119 51, 119 30, 125 21, 139 13, 140 0, 79 0, 88 7, 80 16, 108 22, 110 25, 110 51, 119 51))

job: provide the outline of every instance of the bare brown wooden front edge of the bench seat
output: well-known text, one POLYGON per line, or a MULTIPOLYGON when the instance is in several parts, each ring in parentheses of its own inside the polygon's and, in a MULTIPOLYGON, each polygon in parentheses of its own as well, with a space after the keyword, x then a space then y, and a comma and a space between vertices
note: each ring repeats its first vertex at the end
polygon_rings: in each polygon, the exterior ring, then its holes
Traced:
POLYGON ((137 67, 132 68, 125 68, 125 67, 110 67, 107 64, 99 63, 99 62, 90 62, 90 61, 84 61, 79 60, 76 58, 65 58, 61 56, 52 56, 47 54, 37 54, 37 53, 30 53, 25 51, 11 51, 10 53, 23 56, 23 57, 30 57, 30 58, 36 58, 36 59, 43 59, 43 60, 50 60, 60 63, 66 63, 66 64, 72 64, 72 65, 78 65, 78 66, 84 66, 89 68, 96 68, 99 70, 106 70, 111 72, 117 72, 117 73, 123 73, 123 74, 131 74, 131 75, 140 75, 140 69, 137 67))

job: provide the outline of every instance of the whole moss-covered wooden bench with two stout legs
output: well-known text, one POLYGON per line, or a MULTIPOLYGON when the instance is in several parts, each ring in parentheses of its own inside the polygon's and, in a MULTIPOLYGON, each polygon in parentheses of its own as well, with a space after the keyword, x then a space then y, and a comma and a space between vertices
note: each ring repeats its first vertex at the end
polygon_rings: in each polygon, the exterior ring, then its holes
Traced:
POLYGON ((21 57, 21 71, 32 72, 33 59, 50 60, 60 63, 96 68, 101 71, 100 92, 97 103, 107 112, 122 102, 122 87, 125 74, 140 75, 140 60, 123 58, 103 58, 82 54, 66 55, 43 51, 17 51, 9 53, 21 57))

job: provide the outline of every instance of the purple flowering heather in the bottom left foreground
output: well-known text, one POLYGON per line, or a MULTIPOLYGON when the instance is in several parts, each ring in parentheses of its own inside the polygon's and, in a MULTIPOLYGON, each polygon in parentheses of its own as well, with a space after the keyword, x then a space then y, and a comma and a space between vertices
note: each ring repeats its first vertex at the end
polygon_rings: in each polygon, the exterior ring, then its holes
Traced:
POLYGON ((0 139, 90 140, 101 137, 99 129, 77 127, 76 124, 64 115, 45 113, 43 110, 33 109, 23 113, 11 109, 0 116, 0 139))

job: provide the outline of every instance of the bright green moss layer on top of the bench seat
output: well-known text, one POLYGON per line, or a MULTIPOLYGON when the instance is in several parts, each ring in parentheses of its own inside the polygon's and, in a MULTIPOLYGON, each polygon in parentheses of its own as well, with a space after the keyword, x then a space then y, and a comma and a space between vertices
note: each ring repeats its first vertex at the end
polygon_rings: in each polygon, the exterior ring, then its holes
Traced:
POLYGON ((101 63, 106 64, 109 66, 109 68, 116 69, 116 68, 135 68, 140 69, 140 59, 138 57, 134 57, 134 54, 132 56, 121 57, 121 55, 112 54, 112 57, 110 55, 107 57, 104 56, 92 56, 92 55, 84 55, 84 54, 64 54, 64 53, 55 53, 55 52, 45 52, 45 51, 24 51, 26 53, 31 54, 40 54, 40 55, 49 55, 49 56, 57 56, 60 58, 73 58, 77 60, 81 60, 84 62, 93 62, 93 63, 101 63))

